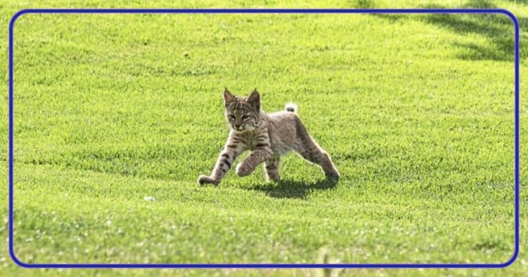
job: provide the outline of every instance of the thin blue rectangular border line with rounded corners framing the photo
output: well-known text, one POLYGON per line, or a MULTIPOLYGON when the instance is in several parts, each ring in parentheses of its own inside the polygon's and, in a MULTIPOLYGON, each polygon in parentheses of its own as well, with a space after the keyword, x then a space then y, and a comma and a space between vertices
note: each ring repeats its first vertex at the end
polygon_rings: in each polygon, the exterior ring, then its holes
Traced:
POLYGON ((519 255, 519 22, 503 9, 25 9, 14 14, 9 24, 9 111, 8 111, 8 185, 9 185, 9 254, 17 265, 28 268, 501 268, 514 263, 519 255), (515 30, 515 112, 514 112, 514 253, 505 263, 367 263, 367 264, 30 264, 14 254, 13 247, 13 36, 14 23, 23 14, 505 14, 515 30))

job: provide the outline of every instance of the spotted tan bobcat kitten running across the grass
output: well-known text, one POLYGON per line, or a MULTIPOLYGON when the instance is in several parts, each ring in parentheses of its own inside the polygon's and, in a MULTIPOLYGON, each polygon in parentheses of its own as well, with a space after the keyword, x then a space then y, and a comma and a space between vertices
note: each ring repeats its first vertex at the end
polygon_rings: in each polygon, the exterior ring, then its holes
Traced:
POLYGON ((265 113, 261 110, 261 96, 254 91, 245 97, 233 96, 223 91, 225 118, 231 130, 228 141, 218 157, 210 176, 200 175, 198 184, 220 183, 238 155, 246 150, 250 155, 236 166, 236 175, 250 175, 256 166, 264 162, 267 180, 279 181, 278 165, 281 156, 296 151, 309 162, 321 166, 328 179, 338 179, 339 173, 330 156, 309 135, 296 114, 294 104, 287 104, 286 111, 265 113))

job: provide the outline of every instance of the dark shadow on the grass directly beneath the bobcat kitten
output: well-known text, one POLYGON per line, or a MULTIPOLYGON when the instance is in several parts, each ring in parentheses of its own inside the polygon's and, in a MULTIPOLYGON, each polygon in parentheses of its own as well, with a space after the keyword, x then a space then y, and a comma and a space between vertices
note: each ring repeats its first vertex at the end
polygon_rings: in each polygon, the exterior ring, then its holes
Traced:
POLYGON ((274 198, 305 199, 311 190, 329 190, 335 188, 336 184, 338 184, 338 179, 325 179, 314 183, 281 180, 278 183, 259 184, 247 189, 260 190, 274 198))

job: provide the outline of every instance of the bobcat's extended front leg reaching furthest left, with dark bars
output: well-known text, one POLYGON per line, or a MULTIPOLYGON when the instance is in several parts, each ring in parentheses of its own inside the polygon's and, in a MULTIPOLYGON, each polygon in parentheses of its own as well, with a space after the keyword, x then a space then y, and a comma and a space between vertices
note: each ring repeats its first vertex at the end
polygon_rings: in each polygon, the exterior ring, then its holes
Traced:
POLYGON ((230 135, 228 142, 223 147, 223 151, 217 159, 217 164, 214 166, 211 175, 200 175, 198 177, 198 184, 214 184, 214 186, 218 186, 223 175, 231 168, 234 159, 245 151, 245 148, 245 142, 241 138, 230 135))

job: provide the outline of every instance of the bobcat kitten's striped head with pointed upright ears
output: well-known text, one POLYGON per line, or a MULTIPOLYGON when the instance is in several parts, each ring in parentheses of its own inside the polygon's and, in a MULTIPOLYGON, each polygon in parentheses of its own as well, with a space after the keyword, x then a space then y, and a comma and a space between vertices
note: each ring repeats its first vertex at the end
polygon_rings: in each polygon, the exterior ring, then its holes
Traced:
POLYGON ((253 131, 261 125, 261 96, 256 89, 247 98, 233 96, 224 89, 223 105, 225 119, 236 133, 253 131))

